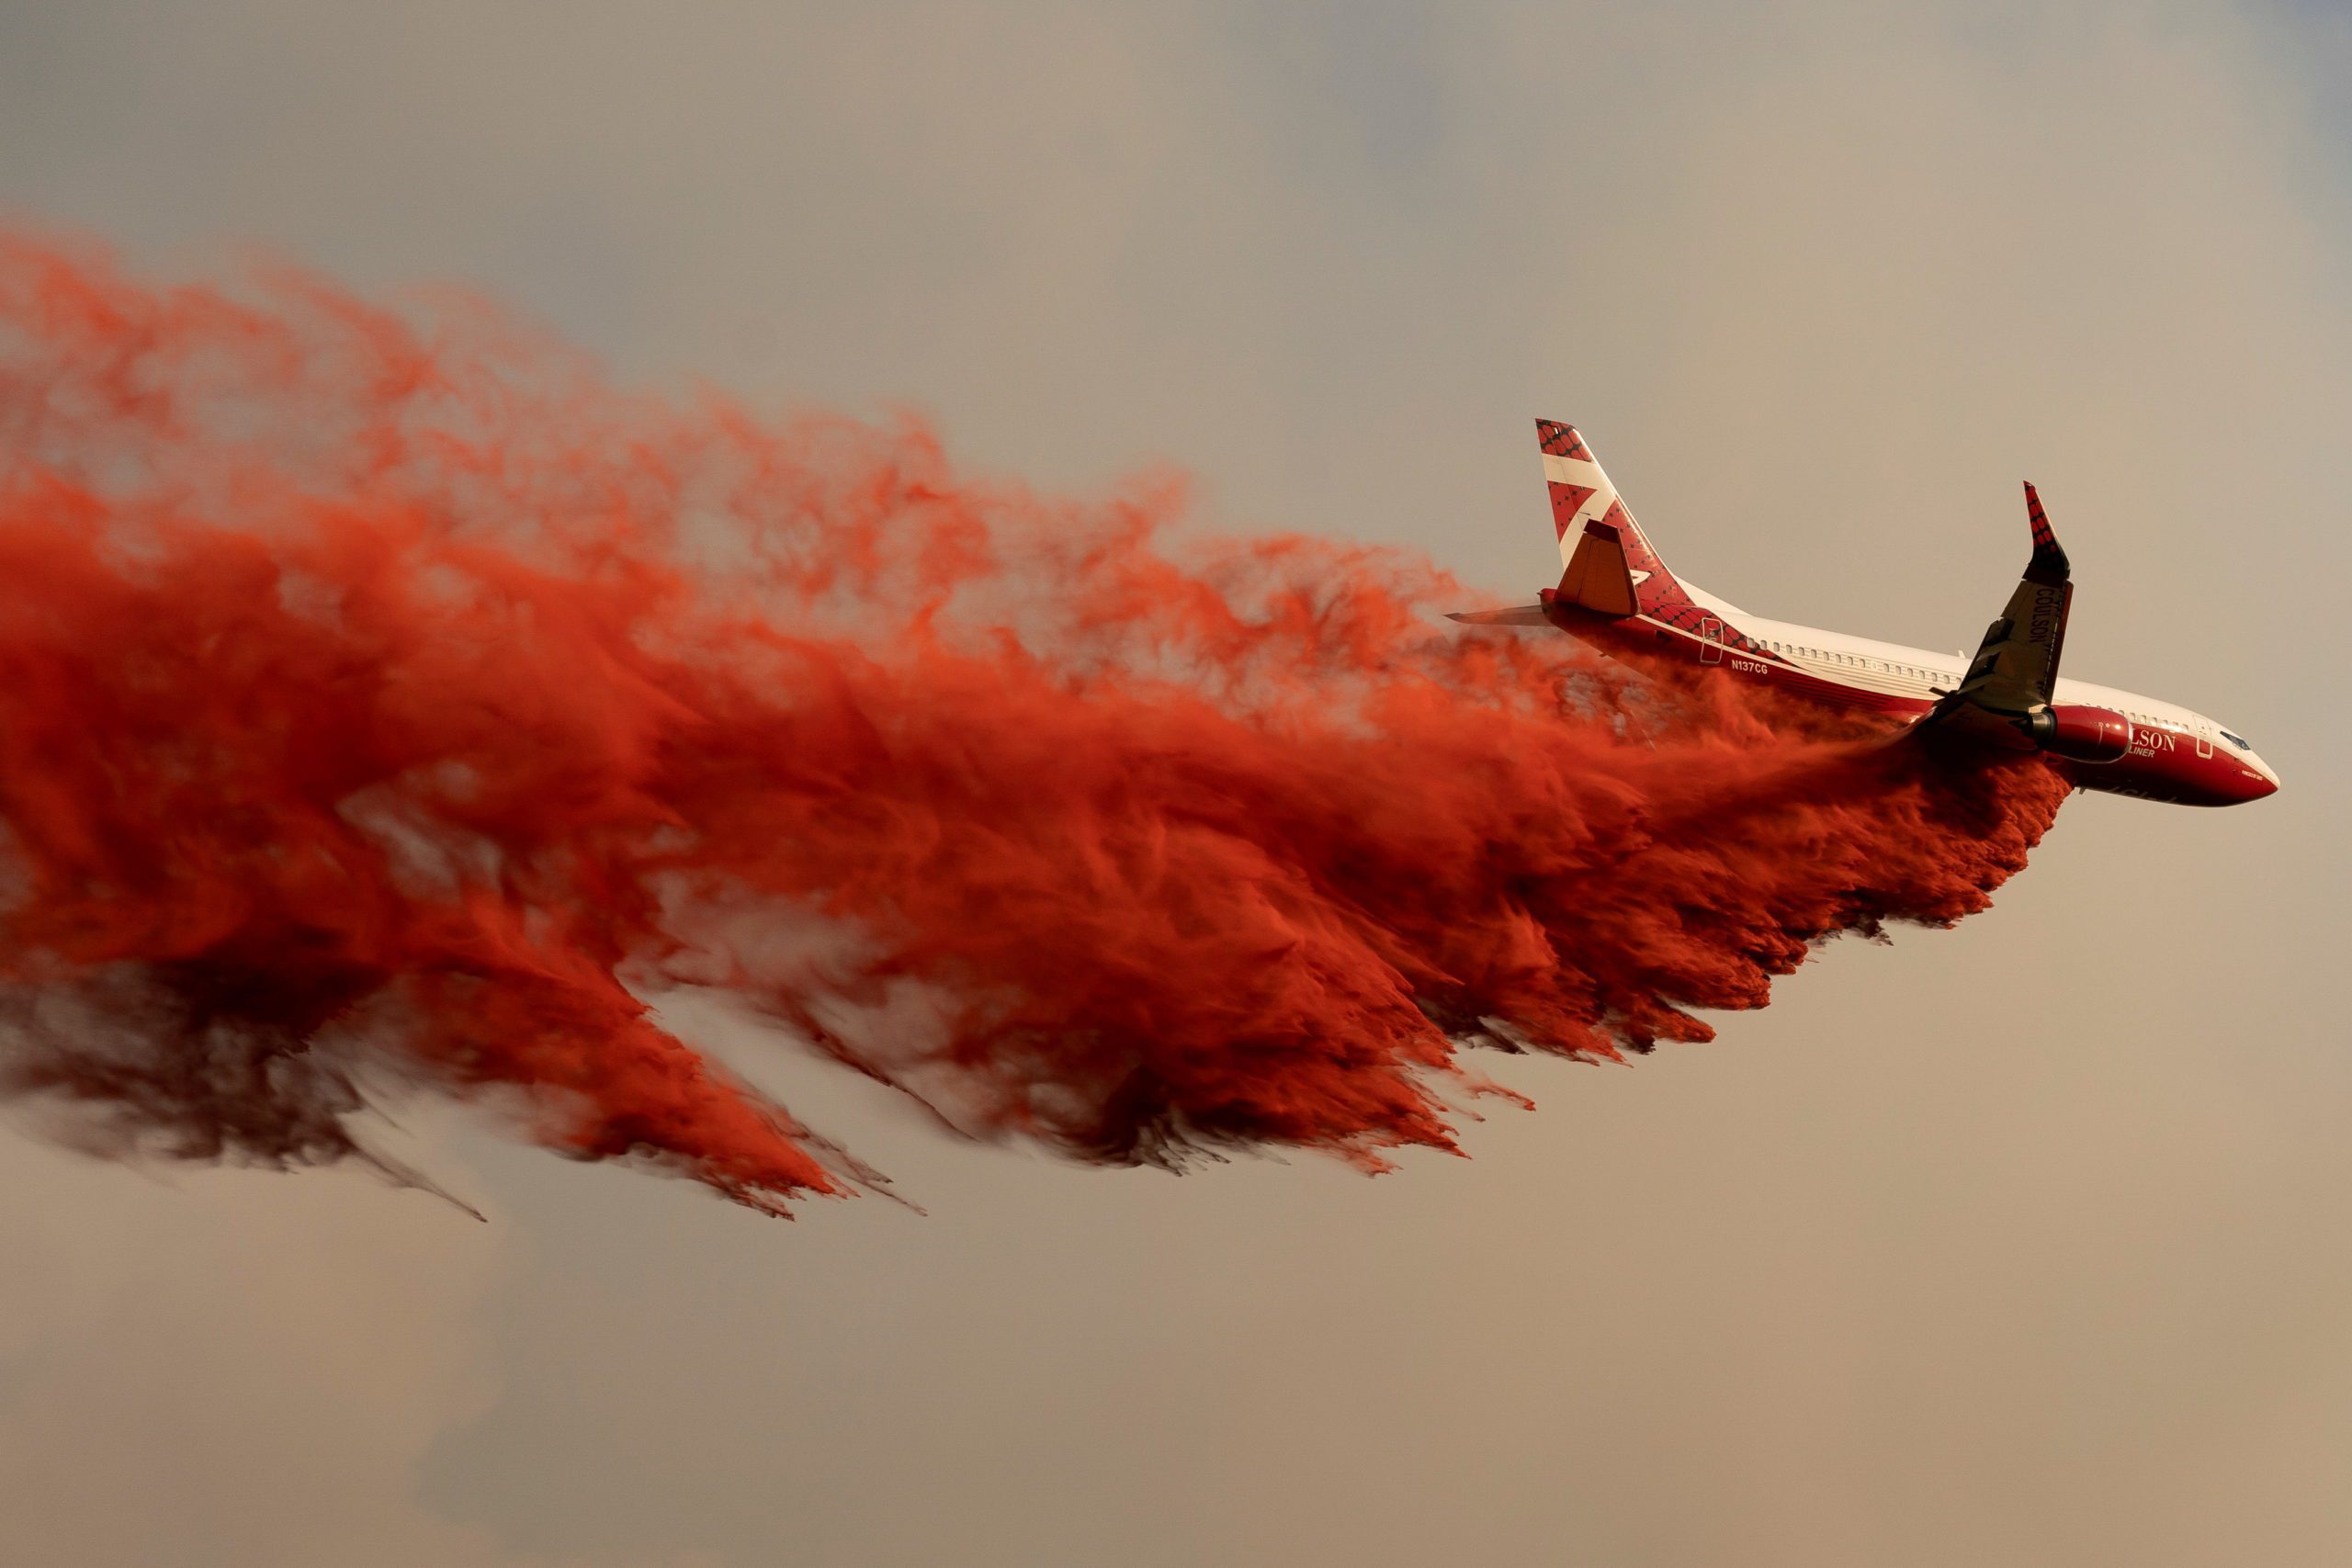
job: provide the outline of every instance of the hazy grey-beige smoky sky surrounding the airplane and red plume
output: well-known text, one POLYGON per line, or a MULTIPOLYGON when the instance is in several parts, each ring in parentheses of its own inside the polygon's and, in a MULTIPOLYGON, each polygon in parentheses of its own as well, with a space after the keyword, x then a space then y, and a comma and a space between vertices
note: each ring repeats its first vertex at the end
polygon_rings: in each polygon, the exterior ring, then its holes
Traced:
POLYGON ((0 1138, 0 1554, 2352 1559, 2347 101, 2317 5, 0 7, 0 202, 143 266, 459 280, 1503 592, 1536 414, 1679 571, 1929 646, 2032 477, 2070 672, 2286 776, 2077 799, 1990 914, 1498 1063, 1541 1112, 1381 1180, 955 1145, 717 1013, 929 1213, 430 1107, 489 1225, 0 1138))

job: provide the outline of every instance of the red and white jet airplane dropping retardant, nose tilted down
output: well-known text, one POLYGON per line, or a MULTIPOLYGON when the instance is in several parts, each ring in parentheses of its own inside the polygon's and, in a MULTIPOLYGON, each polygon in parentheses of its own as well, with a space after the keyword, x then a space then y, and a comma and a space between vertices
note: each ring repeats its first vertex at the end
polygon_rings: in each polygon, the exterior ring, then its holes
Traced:
POLYGON ((1677 578, 1625 510, 1592 447, 1536 421, 1559 538, 1559 588, 1538 604, 1456 614, 1472 625, 1555 625, 1602 651, 1642 651, 1719 668, 1811 703, 1875 710, 1905 733, 2039 750, 2079 788, 2183 806, 2234 806, 2277 792, 2253 745, 2201 712, 2058 677, 2067 607, 2065 550, 2042 496, 2025 487, 2032 559, 1976 658, 1766 621, 1677 578))

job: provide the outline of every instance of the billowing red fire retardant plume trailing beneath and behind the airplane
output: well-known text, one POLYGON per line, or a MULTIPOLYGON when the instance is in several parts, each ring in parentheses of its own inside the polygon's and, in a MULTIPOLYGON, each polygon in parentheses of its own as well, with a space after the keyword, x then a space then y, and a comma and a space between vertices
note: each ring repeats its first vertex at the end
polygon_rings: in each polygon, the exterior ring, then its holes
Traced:
POLYGON ((1705 1039, 1980 910, 2065 792, 1178 510, 628 397, 463 299, 5 237, 0 1091, 108 1152, 365 1159, 440 1091, 757 1208, 856 1185, 649 1018, 694 985, 971 1135, 1378 1166, 1454 1147, 1465 1044, 1705 1039))

